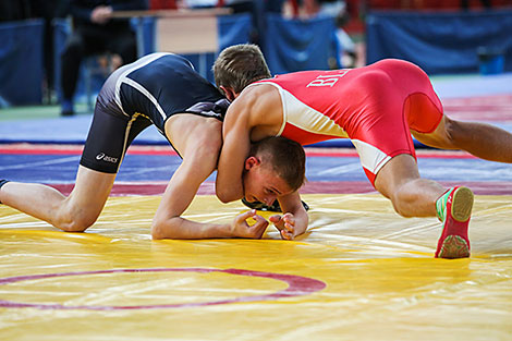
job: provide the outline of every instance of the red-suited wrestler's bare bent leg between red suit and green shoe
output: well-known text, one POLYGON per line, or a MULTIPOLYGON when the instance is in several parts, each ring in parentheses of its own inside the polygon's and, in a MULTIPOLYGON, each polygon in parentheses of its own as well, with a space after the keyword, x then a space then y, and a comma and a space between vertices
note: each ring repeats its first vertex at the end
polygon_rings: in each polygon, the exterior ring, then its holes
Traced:
POLYGON ((436 200, 446 192, 439 183, 419 178, 416 160, 402 154, 377 173, 375 187, 403 217, 436 217, 436 200))

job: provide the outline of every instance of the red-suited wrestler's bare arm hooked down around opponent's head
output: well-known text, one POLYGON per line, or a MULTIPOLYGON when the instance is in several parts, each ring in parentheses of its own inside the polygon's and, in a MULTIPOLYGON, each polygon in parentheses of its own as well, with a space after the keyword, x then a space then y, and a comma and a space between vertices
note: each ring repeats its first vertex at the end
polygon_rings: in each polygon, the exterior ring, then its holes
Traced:
POLYGON ((222 125, 223 145, 216 181, 222 203, 244 195, 242 172, 251 143, 276 136, 282 122, 281 100, 271 85, 249 87, 231 103, 222 125))

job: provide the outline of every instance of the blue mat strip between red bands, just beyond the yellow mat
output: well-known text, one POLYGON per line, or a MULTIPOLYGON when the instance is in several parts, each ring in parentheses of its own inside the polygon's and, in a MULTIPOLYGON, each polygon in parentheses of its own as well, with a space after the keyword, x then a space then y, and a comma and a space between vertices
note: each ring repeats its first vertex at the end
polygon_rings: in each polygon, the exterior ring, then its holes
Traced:
MULTIPOLYGON (((73 183, 80 155, 0 155, 4 179, 39 183, 73 183)), ((169 181, 181 165, 169 155, 127 155, 117 176, 118 182, 169 181)), ((306 178, 315 181, 367 181, 357 157, 309 157, 306 178)), ((508 163, 481 159, 418 158, 422 176, 436 181, 510 182, 508 163)), ((208 178, 215 181, 215 174, 208 178)))

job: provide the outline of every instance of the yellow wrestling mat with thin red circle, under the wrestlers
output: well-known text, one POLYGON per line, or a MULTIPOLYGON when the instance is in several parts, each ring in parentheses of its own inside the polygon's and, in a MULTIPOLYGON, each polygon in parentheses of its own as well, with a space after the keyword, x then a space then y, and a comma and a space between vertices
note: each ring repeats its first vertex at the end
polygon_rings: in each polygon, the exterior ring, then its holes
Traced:
MULTIPOLYGON (((470 259, 379 195, 304 195, 295 242, 151 241, 155 196, 86 233, 0 207, 0 340, 512 340, 512 197, 476 196, 470 259)), ((229 221, 199 196, 186 217, 229 221)))

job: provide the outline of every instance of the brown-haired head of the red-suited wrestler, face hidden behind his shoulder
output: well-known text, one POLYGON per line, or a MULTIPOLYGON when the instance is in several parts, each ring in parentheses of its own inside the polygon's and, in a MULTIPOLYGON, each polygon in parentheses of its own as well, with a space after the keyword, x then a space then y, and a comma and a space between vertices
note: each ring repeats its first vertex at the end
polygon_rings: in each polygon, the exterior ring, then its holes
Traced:
POLYGON ((214 63, 214 75, 217 87, 230 100, 251 83, 271 77, 261 50, 252 44, 223 49, 214 63))

